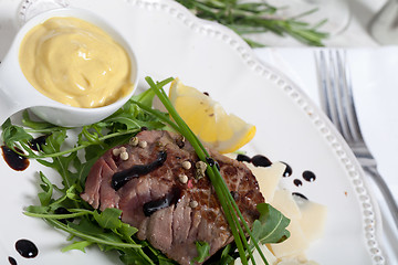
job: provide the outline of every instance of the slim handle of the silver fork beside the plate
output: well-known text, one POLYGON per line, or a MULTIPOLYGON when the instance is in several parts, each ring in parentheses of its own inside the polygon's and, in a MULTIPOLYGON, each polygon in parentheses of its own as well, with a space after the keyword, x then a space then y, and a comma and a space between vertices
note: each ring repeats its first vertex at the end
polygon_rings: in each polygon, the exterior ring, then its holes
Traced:
POLYGON ((376 182, 378 189, 381 192, 381 195, 384 197, 388 209, 390 210, 394 223, 396 227, 398 229, 398 205, 397 201, 395 200, 390 189, 388 188, 386 181, 383 179, 383 177, 379 174, 377 169, 375 167, 364 167, 364 170, 369 173, 373 177, 373 180, 376 182))

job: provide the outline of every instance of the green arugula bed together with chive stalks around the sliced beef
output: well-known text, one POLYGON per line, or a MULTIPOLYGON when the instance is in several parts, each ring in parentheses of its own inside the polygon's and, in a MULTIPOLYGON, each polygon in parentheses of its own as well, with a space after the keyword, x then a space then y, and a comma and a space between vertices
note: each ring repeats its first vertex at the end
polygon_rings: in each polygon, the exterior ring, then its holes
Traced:
MULTIPOLYGON (((146 81, 149 86, 147 91, 133 96, 115 114, 96 124, 82 128, 65 128, 34 120, 24 112, 22 126, 12 124, 10 119, 2 125, 2 139, 7 147, 27 158, 35 159, 44 167, 52 168, 62 179, 62 186, 54 184, 40 172, 40 204, 25 205, 24 212, 29 216, 43 219, 51 226, 70 234, 69 243, 62 252, 84 252, 86 247, 96 245, 103 252, 118 252, 124 264, 177 264, 147 241, 138 240, 135 236, 138 230, 121 221, 122 210, 98 211, 80 197, 94 162, 108 149, 128 142, 143 128, 181 134, 192 145, 200 160, 209 165, 209 153, 179 117, 163 89, 172 78, 154 82, 147 77, 146 81), (167 113, 153 108, 155 95, 159 97, 167 113), (44 137, 45 142, 34 144, 32 148, 31 142, 36 137, 44 137), (72 146, 69 144, 71 140, 72 146)), ((207 176, 214 187, 234 242, 205 264, 234 264, 237 258, 240 258, 242 264, 249 264, 249 261, 255 264, 255 250, 260 253, 263 264, 268 264, 259 245, 286 240, 290 236, 286 230, 290 220, 270 204, 261 203, 258 204, 260 218, 254 221, 252 229, 249 229, 217 165, 208 166, 207 176)), ((196 242, 196 246, 198 256, 191 264, 202 263, 208 257, 208 242, 196 242)))

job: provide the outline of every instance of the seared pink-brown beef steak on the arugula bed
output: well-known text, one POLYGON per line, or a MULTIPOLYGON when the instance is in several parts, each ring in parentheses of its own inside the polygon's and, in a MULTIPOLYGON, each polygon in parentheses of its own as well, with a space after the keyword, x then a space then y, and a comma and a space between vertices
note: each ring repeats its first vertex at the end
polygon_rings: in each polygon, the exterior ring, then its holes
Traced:
MULTIPOLYGON (((112 149, 96 161, 88 173, 83 200, 95 209, 123 210, 122 221, 137 227, 140 240, 148 240, 182 265, 198 256, 195 242, 208 242, 210 255, 231 243, 233 236, 210 180, 208 177, 197 179, 195 165, 199 159, 190 144, 169 131, 145 130, 137 138, 147 146, 123 146, 127 160, 115 156, 117 151, 112 149), (159 152, 167 153, 161 166, 146 174, 133 176, 119 189, 113 188, 115 173, 132 172, 137 165, 149 165, 159 152), (182 167, 184 161, 190 161, 191 168, 182 167), (188 177, 187 182, 180 180, 181 174, 188 177), (168 203, 161 204, 167 199, 168 203), (160 206, 154 210, 154 204, 160 206)), ((251 225, 259 216, 255 205, 264 202, 254 176, 242 162, 216 151, 210 150, 210 153, 251 225)))

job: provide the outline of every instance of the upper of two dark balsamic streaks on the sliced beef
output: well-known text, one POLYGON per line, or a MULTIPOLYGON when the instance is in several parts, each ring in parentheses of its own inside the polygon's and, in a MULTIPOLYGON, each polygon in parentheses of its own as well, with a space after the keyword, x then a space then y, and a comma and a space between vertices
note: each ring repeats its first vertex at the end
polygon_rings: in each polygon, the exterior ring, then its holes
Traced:
POLYGON ((121 189, 129 180, 138 178, 139 176, 147 174, 150 171, 159 168, 167 159, 166 151, 159 151, 157 159, 147 165, 136 165, 129 169, 114 173, 112 177, 112 188, 114 190, 121 189))

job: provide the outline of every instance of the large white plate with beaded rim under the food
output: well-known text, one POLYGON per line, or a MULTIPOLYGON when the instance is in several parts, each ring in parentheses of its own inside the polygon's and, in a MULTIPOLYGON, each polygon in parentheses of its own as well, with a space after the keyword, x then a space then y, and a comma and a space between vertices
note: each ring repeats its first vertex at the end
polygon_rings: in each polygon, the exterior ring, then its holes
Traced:
MULTIPOLYGON (((308 257, 321 264, 385 264, 379 245, 380 219, 364 174, 352 151, 324 115, 280 71, 260 64, 250 47, 230 30, 201 21, 174 1, 161 0, 27 0, 24 6, 0 0, 0 59, 21 21, 40 9, 55 6, 86 8, 116 25, 135 50, 144 77, 180 77, 184 83, 210 95, 254 124, 258 134, 247 147, 251 155, 263 153, 285 161, 293 176, 283 186, 328 208, 325 236, 312 245, 308 257), (50 4, 49 4, 50 3, 50 4), (111 8, 112 7, 112 8, 111 8), (22 13, 20 13, 22 11, 22 13), (316 181, 293 184, 304 170, 316 181)), ((86 254, 61 253, 65 234, 41 220, 27 218, 23 209, 38 202, 38 170, 15 172, 0 161, 2 202, 0 263, 12 256, 19 264, 113 264, 116 255, 90 248, 86 254), (39 247, 35 258, 25 261, 14 250, 19 239, 39 247)), ((52 178, 54 173, 48 171, 52 178)))

